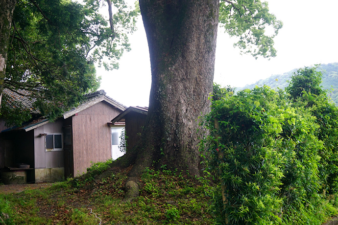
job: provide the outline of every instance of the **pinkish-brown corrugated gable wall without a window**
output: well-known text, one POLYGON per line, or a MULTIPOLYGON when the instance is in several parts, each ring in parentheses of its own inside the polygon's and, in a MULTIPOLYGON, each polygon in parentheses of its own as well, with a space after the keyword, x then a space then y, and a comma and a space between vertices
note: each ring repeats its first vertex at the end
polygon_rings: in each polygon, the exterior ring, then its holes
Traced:
POLYGON ((121 110, 105 102, 72 116, 74 176, 82 175, 91 161, 111 158, 111 133, 107 125, 121 110))

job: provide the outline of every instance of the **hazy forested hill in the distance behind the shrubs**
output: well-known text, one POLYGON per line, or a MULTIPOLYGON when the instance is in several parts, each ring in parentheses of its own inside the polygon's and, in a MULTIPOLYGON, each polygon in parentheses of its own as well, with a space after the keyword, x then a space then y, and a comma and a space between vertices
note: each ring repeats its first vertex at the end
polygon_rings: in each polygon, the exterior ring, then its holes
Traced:
MULTIPOLYGON (((264 80, 259 80, 254 84, 246 85, 242 88, 237 88, 237 90, 253 89, 256 85, 259 87, 267 85, 270 86, 272 89, 275 89, 277 87, 280 89, 284 89, 289 85, 287 81, 291 79, 291 76, 296 70, 297 69, 292 69, 291 71, 283 74, 272 75, 264 80)), ((331 96, 332 100, 338 106, 338 63, 320 65, 318 67, 318 70, 323 73, 321 84, 323 89, 331 91, 331 93, 329 92, 328 95, 331 96)))

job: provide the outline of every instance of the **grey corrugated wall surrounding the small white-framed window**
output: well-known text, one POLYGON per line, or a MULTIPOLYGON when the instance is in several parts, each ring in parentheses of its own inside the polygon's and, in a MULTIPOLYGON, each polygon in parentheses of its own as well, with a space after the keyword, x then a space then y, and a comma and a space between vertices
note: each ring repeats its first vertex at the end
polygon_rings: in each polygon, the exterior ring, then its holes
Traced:
POLYGON ((35 169, 64 167, 63 151, 46 152, 45 136, 40 134, 62 133, 63 118, 34 129, 35 169))

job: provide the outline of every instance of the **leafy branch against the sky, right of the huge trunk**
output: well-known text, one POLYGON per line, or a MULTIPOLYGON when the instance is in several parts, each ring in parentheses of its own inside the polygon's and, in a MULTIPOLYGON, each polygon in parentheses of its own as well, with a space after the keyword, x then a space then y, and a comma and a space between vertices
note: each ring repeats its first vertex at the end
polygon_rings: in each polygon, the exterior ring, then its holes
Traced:
POLYGON ((231 36, 239 37, 234 44, 256 59, 276 56, 273 38, 283 26, 269 13, 267 2, 260 0, 221 0, 219 22, 231 36), (270 34, 269 34, 270 33, 270 34))

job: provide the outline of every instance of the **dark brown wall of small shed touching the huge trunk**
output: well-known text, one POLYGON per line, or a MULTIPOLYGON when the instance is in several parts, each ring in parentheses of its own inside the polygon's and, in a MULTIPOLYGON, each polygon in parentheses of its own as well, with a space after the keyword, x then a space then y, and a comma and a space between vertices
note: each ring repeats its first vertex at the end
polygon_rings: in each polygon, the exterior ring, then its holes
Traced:
POLYGON ((142 132, 142 127, 145 126, 146 115, 129 112, 125 115, 125 134, 127 139, 127 151, 132 149, 140 140, 138 133, 142 132))

